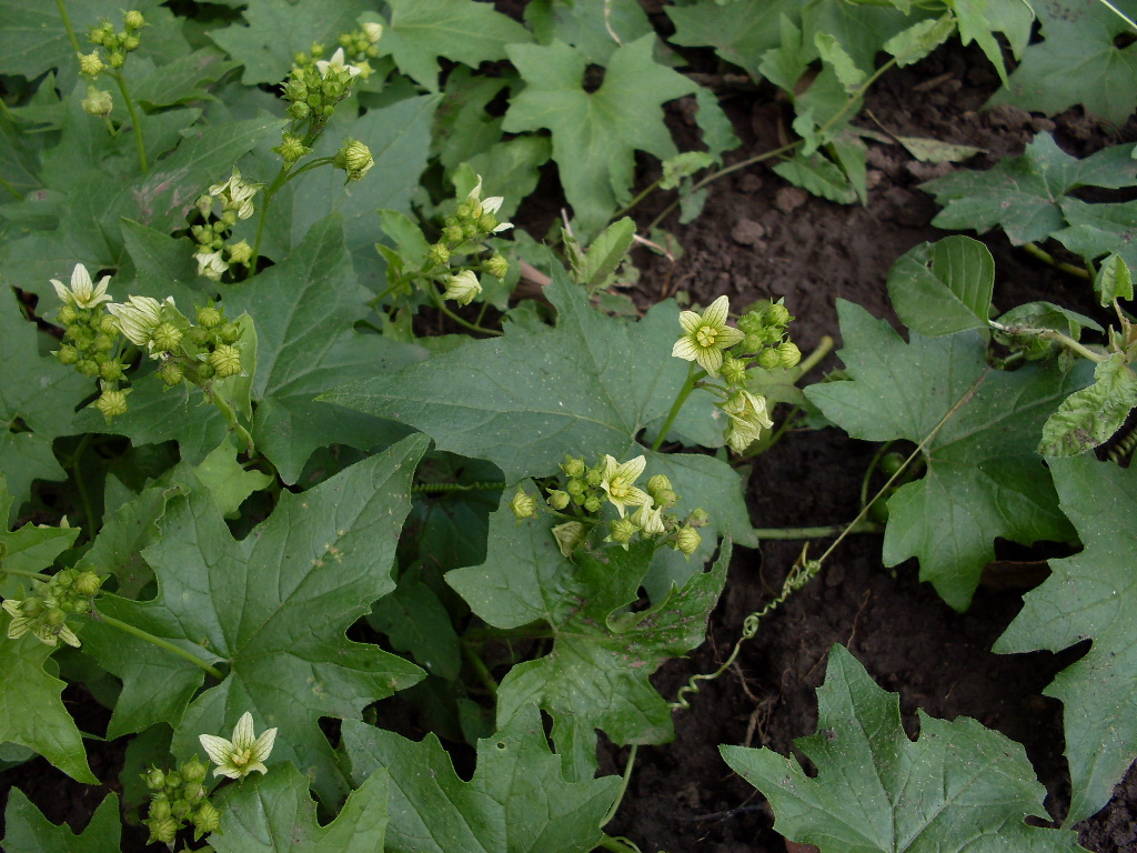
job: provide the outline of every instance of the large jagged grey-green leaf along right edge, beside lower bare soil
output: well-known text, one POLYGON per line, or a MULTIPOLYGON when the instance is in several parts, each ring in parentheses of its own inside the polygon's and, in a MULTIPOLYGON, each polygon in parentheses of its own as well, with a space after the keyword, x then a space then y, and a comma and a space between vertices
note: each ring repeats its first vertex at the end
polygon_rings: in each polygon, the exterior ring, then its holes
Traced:
POLYGON ((1137 553, 1134 507, 1137 467, 1120 469, 1093 456, 1051 462, 1062 511, 1085 550, 1052 560, 1051 577, 1027 593, 1022 611, 995 643, 1014 654, 1061 652, 1086 639, 1093 645, 1046 688, 1064 706, 1067 759, 1073 794, 1067 826, 1109 802, 1137 756, 1134 660, 1137 606, 1132 555, 1137 553))

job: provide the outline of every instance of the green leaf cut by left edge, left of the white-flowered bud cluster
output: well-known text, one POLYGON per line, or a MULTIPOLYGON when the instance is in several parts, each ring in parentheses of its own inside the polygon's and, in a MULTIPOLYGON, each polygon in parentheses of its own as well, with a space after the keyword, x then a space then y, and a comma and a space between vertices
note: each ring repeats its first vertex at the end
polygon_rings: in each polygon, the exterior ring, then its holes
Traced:
MULTIPOLYGON (((55 291, 51 299, 47 305, 58 303, 55 291)), ((31 495, 32 480, 64 479, 51 440, 72 432, 76 401, 94 390, 55 356, 40 355, 40 342, 48 340, 24 318, 15 292, 0 284, 0 470, 14 498, 8 521, 31 495)))

